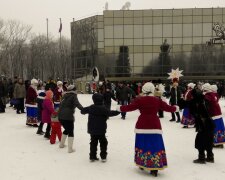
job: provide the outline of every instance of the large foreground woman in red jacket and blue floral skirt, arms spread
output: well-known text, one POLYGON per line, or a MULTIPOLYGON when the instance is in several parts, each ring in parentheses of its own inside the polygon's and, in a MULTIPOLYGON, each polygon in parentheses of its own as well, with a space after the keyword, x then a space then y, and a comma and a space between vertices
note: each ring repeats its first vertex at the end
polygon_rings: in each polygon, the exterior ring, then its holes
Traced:
POLYGON ((139 109, 135 132, 135 163, 141 170, 150 171, 157 176, 158 170, 167 167, 166 151, 162 137, 162 127, 157 113, 159 109, 167 112, 178 111, 177 106, 170 106, 161 99, 154 97, 155 87, 147 82, 142 87, 141 96, 131 104, 118 106, 121 112, 139 109))

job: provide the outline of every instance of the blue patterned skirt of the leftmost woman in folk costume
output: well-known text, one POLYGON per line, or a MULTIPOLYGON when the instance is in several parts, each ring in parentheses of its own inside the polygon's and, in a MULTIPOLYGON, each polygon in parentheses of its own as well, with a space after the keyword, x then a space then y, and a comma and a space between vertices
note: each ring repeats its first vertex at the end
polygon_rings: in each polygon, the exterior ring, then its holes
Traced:
POLYGON ((27 125, 37 125, 38 124, 38 108, 37 104, 26 104, 26 109, 27 109, 27 125))

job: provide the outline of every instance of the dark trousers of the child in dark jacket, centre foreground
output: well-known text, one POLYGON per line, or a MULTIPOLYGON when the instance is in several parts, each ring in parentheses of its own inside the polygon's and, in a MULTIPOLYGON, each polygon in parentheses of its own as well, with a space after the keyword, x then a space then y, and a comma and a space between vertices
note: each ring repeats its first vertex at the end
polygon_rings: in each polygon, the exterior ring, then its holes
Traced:
POLYGON ((90 142, 90 159, 94 159, 97 157, 97 146, 98 141, 100 143, 100 157, 102 159, 106 159, 107 157, 107 145, 108 141, 105 137, 105 134, 102 135, 93 135, 91 134, 91 142, 90 142))

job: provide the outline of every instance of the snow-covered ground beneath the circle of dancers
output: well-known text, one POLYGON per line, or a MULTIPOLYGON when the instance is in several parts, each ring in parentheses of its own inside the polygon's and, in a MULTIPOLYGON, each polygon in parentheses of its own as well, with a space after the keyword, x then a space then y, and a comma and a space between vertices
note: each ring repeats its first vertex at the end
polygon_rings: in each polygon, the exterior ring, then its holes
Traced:
MULTIPOLYGON (((83 106, 92 103, 91 95, 78 95, 83 106)), ((225 100, 220 101, 225 113, 225 100)), ((116 103, 113 102, 112 109, 116 103)), ((145 180, 154 178, 140 171, 133 162, 134 126, 139 112, 130 112, 126 120, 120 115, 108 120, 108 161, 89 162, 87 115, 75 113, 75 153, 50 145, 36 128, 25 125, 25 114, 6 108, 0 114, 1 180, 145 180)), ((161 119, 168 158, 168 168, 159 171, 158 179, 219 180, 225 177, 225 149, 214 149, 215 163, 193 164, 198 152, 194 148, 194 128, 183 129, 169 122, 170 113, 161 119)))

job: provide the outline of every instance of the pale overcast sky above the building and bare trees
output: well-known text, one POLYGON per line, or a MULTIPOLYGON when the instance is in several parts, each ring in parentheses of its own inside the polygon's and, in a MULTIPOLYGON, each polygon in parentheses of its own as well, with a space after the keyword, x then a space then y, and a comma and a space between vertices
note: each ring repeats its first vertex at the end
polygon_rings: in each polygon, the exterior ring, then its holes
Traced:
MULTIPOLYGON (((49 32, 59 36, 59 18, 62 18, 62 35, 70 37, 70 22, 73 18, 102 14, 105 3, 109 10, 118 10, 128 0, 0 0, 0 18, 16 19, 33 26, 35 33, 46 33, 46 18, 49 32)), ((225 0, 129 0, 134 9, 170 9, 193 7, 225 7, 225 0)))

